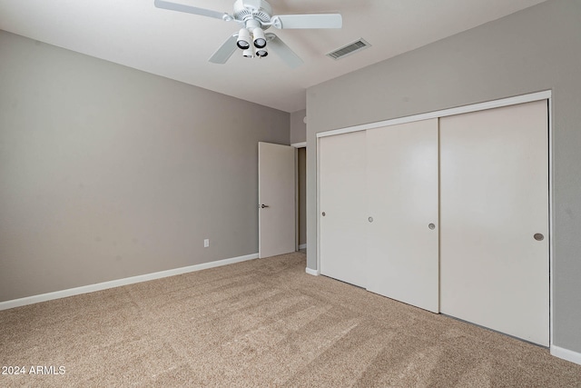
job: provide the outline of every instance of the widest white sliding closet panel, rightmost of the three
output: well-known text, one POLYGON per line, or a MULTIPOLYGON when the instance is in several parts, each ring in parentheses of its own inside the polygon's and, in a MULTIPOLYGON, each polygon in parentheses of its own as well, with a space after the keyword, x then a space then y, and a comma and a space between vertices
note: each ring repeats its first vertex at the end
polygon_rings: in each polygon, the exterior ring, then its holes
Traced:
POLYGON ((547 346, 547 101, 444 117, 440 146, 440 311, 547 346))

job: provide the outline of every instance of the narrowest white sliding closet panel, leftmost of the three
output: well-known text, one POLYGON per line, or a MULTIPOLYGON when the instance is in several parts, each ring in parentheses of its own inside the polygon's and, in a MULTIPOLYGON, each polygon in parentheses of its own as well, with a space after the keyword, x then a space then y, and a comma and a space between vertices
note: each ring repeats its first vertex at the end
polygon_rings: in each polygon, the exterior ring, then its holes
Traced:
POLYGON ((365 131, 319 140, 320 274, 364 287, 365 131))

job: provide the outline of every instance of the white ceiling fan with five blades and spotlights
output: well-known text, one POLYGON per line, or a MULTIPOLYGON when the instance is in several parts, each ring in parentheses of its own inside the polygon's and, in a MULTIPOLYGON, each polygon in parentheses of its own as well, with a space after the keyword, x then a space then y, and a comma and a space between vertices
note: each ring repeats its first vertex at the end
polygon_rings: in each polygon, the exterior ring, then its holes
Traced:
POLYGON ((210 57, 209 61, 214 64, 225 64, 237 47, 247 58, 263 58, 269 55, 270 48, 281 56, 287 65, 295 68, 302 65, 300 57, 294 54, 291 48, 281 41, 281 38, 272 33, 264 33, 265 30, 271 26, 278 29, 341 28, 343 23, 340 14, 272 15, 271 5, 264 0, 236 0, 232 14, 165 0, 154 0, 154 5, 162 9, 208 16, 242 25, 240 31, 231 35, 210 57))

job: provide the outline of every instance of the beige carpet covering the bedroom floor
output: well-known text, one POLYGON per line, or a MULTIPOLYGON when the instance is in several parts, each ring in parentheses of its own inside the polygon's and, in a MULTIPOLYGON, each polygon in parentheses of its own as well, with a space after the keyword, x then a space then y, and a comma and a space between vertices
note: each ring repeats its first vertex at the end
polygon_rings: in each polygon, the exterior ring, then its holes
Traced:
POLYGON ((0 327, 1 365, 26 368, 0 386, 581 386, 581 365, 305 274, 304 254, 6 310, 0 327))

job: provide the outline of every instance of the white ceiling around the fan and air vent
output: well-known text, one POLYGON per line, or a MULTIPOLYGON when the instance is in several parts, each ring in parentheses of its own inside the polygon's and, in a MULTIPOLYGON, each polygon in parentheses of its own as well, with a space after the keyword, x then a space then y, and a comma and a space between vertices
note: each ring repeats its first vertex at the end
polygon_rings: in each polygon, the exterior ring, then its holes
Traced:
MULTIPOLYGON (((175 0, 232 13, 234 0, 175 0)), ((275 30, 305 62, 274 54, 225 65, 208 58, 240 26, 158 9, 153 0, 0 0, 0 29, 286 112, 305 89, 545 0, 271 0, 275 15, 339 12, 340 30, 275 30), (363 38, 372 46, 334 61, 325 54, 363 38)), ((1 71, 1 70, 0 70, 1 71)))

